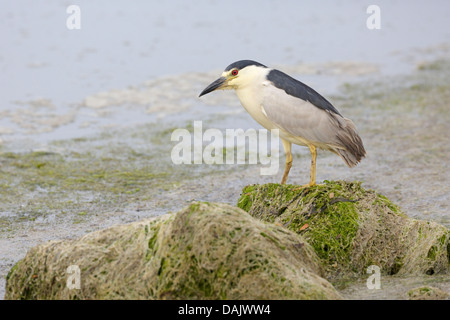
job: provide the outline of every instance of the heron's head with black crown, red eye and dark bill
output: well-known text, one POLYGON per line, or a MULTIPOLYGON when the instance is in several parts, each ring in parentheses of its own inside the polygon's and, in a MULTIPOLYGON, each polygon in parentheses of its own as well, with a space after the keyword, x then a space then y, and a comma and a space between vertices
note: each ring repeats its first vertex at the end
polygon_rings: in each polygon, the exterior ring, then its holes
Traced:
POLYGON ((222 76, 200 93, 199 97, 214 90, 239 89, 265 75, 267 67, 253 60, 240 60, 230 64, 222 76))

